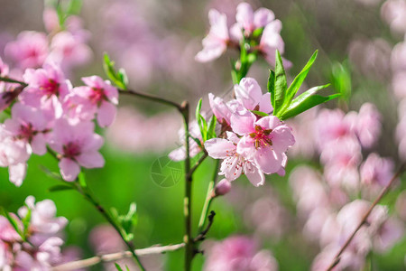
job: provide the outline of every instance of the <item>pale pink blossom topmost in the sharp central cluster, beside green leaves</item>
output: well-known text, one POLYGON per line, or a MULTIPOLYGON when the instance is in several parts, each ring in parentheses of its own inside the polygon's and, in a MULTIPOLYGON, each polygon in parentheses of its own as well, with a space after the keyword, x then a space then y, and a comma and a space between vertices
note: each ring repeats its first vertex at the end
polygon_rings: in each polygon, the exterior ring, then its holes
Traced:
POLYGON ((239 85, 235 85, 235 98, 247 109, 264 113, 271 113, 271 93, 263 94, 258 82, 253 78, 241 79, 239 85))

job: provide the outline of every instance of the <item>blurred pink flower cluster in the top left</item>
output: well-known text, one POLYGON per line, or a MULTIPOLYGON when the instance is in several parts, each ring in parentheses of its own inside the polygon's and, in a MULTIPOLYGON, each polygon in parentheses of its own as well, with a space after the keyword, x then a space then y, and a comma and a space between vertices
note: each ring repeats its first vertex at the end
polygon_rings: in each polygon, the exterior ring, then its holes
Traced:
POLYGON ((24 69, 37 69, 45 63, 58 63, 64 72, 82 66, 92 58, 86 44, 90 33, 83 29, 82 20, 76 15, 66 18, 63 26, 55 9, 47 8, 43 22, 48 32, 23 31, 5 46, 5 57, 14 63, 14 76, 24 69))

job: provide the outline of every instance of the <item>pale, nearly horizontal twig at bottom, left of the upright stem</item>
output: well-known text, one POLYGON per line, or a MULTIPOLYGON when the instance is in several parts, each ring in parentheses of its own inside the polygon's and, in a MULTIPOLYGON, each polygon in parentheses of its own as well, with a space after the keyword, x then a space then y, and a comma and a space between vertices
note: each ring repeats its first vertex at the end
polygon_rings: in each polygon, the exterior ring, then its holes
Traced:
MULTIPOLYGON (((141 248, 135 249, 135 254, 138 256, 145 256, 145 255, 152 255, 152 254, 162 254, 165 252, 175 251, 180 248, 185 247, 184 243, 176 244, 176 245, 169 245, 164 247, 151 247, 151 248, 141 248)), ((116 261, 126 257, 133 257, 133 254, 130 251, 122 251, 116 252, 111 254, 99 255, 95 257, 89 257, 87 259, 82 259, 78 261, 73 261, 69 263, 62 264, 60 266, 52 267, 52 271, 68 271, 68 270, 76 270, 80 268, 85 268, 88 266, 95 266, 99 263, 106 263, 116 261)))

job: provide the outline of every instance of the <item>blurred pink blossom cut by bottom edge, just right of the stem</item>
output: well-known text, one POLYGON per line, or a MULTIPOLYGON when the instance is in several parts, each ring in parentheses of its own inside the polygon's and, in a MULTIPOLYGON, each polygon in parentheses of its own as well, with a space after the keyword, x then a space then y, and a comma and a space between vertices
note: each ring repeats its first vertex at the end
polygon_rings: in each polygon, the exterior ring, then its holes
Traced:
POLYGON ((216 242, 208 249, 203 270, 209 271, 276 271, 278 263, 270 251, 257 251, 251 238, 235 236, 216 242))

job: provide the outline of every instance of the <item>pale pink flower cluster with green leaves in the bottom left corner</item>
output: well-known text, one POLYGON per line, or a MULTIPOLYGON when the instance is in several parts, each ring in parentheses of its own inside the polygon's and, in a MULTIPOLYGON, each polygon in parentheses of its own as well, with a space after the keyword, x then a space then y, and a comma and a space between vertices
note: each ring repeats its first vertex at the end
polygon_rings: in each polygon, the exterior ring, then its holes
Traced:
POLYGON ((30 196, 18 214, 0 216, 0 269, 49 270, 63 261, 61 231, 68 220, 56 217, 51 200, 30 196))

